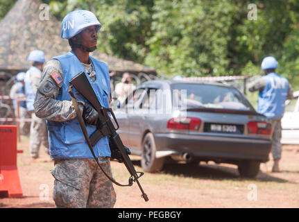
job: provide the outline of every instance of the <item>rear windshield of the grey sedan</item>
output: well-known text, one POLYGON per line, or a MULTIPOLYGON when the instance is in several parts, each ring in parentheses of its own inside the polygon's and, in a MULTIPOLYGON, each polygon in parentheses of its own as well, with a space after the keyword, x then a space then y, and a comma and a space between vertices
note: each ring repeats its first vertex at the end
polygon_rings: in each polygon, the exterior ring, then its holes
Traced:
MULTIPOLYGON (((173 102, 187 104, 187 108, 215 108, 232 110, 254 110, 245 96, 233 87, 195 83, 174 83, 173 102), (182 96, 185 90, 185 96, 182 96)), ((175 104, 176 105, 176 104, 175 104)))

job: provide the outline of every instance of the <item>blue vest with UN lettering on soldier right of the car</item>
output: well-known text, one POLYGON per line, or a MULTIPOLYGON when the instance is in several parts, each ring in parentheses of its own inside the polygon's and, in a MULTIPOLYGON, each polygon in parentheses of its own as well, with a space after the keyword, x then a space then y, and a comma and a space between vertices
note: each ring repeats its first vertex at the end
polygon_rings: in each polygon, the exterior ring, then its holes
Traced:
POLYGON ((274 72, 262 78, 266 81, 266 86, 259 92, 257 112, 268 119, 282 118, 288 94, 288 80, 274 72))

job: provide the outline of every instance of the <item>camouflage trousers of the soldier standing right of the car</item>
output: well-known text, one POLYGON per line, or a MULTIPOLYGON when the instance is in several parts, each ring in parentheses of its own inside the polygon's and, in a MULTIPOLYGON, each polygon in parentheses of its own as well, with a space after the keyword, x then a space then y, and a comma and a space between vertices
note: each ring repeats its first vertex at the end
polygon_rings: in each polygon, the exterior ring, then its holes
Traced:
POLYGON ((272 156, 273 160, 280 160, 282 157, 282 144, 280 139, 282 139, 282 123, 281 119, 269 119, 273 128, 272 135, 272 156))

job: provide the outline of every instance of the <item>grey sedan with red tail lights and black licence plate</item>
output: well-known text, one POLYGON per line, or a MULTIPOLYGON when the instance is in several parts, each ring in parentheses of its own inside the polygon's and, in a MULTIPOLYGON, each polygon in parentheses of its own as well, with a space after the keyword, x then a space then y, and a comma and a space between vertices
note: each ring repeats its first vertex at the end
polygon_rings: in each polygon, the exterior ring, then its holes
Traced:
POLYGON ((166 160, 237 164, 253 178, 271 151, 271 123, 238 89, 218 83, 154 80, 114 109, 123 144, 146 172, 166 160))

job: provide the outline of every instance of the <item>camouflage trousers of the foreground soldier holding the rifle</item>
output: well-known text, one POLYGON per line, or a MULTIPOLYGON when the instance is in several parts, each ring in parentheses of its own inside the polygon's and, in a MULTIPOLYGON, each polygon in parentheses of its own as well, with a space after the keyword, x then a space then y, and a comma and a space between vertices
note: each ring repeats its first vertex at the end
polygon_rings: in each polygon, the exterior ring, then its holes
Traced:
MULTIPOLYGON (((100 157, 103 170, 112 176, 110 160, 100 157)), ((112 182, 94 159, 55 160, 51 171, 54 181, 53 200, 63 208, 110 208, 116 202, 112 182)))

